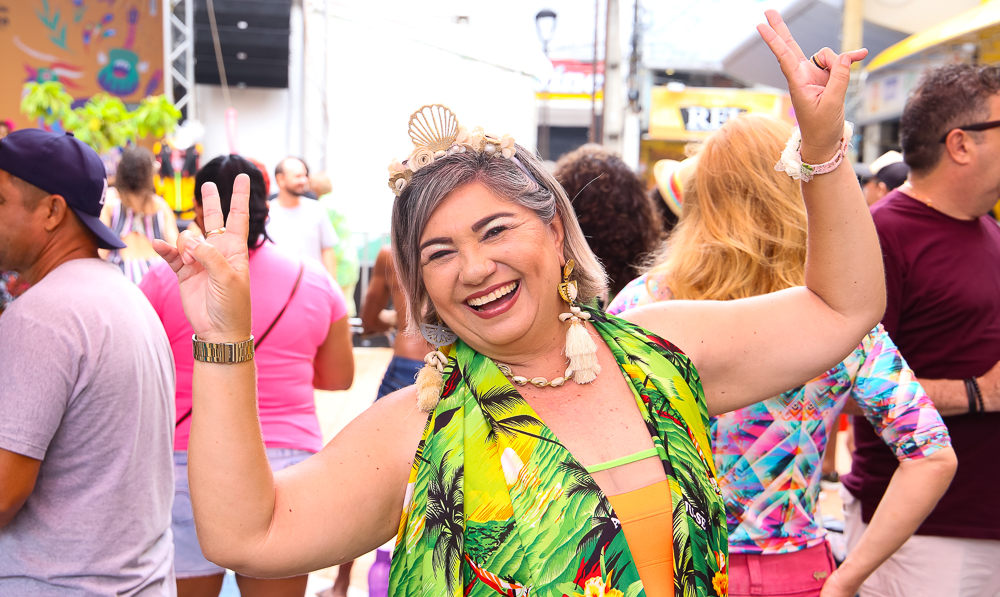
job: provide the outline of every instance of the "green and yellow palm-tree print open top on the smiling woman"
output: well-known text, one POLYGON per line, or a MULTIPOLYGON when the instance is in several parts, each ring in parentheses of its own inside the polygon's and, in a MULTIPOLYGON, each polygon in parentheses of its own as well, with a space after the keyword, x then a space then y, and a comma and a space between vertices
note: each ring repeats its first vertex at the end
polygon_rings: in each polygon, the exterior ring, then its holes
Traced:
MULTIPOLYGON (((726 517, 698 373, 669 342, 588 309, 631 382, 670 485, 675 594, 726 595, 726 517), (708 456, 709 458, 707 458, 708 456)), ((392 556, 392 597, 639 597, 610 503, 488 357, 448 351, 392 556)))

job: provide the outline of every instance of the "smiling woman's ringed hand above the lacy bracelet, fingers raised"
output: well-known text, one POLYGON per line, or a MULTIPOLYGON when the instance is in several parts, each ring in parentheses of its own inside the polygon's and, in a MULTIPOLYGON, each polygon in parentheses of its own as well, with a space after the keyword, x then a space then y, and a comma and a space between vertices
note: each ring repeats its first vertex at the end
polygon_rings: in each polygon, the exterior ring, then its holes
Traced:
POLYGON ((802 53, 776 10, 764 12, 767 25, 757 25, 760 36, 771 48, 788 80, 788 93, 802 131, 802 160, 821 164, 837 153, 844 136, 844 98, 851 80, 851 64, 868 55, 868 50, 837 54, 830 48, 816 53, 817 67, 802 53))

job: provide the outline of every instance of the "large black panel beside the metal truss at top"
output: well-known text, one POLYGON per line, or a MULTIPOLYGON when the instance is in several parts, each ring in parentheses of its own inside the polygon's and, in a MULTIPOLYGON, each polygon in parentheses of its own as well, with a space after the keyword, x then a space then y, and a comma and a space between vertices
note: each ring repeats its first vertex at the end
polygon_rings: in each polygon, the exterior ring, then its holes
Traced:
MULTIPOLYGON (((288 87, 292 0, 214 0, 219 45, 231 87, 288 87)), ((220 85, 206 0, 195 2, 194 80, 220 85)))

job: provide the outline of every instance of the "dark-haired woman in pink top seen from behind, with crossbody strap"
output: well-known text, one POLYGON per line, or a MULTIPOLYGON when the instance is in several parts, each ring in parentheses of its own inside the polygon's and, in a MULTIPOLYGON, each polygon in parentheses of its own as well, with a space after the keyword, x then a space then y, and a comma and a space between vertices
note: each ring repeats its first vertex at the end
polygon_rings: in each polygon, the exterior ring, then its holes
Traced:
MULTIPOLYGON (((232 195, 238 174, 250 176, 250 278, 253 334, 257 340, 257 409, 268 458, 274 470, 301 462, 322 448, 313 390, 344 390, 354 378, 354 357, 347 307, 340 288, 322 264, 286 256, 267 239, 267 192, 264 177, 239 156, 218 157, 195 179, 195 222, 204 230, 201 186, 214 182, 232 195), (268 330, 270 331, 268 332, 268 330), (265 335, 266 334, 266 335, 265 335)), ((222 204, 228 215, 229 202, 222 204)), ((177 368, 177 430, 174 436, 176 494, 173 508, 174 567, 177 594, 219 594, 225 570, 205 559, 194 530, 187 484, 187 443, 191 429, 191 354, 193 331, 184 309, 177 276, 161 263, 140 285, 163 321, 177 368)), ((235 498, 236 496, 234 496, 235 498)), ((301 597, 306 576, 259 580, 237 575, 243 595, 301 597)))

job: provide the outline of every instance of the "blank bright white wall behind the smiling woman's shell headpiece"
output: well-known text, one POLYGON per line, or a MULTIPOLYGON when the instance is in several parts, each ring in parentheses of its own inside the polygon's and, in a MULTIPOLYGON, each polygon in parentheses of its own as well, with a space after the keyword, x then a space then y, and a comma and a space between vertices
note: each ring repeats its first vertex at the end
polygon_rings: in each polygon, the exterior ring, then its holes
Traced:
MULTIPOLYGON (((386 167, 413 150, 407 124, 424 104, 448 106, 470 129, 482 126, 535 146, 535 78, 453 49, 471 53, 475 39, 496 47, 496 38, 462 25, 401 30, 399 21, 328 10, 327 171, 334 193, 352 198, 356 213, 348 217, 357 231, 389 230, 395 195, 386 167)), ((512 53, 515 46, 510 43, 512 53)))

